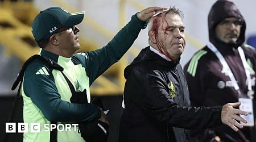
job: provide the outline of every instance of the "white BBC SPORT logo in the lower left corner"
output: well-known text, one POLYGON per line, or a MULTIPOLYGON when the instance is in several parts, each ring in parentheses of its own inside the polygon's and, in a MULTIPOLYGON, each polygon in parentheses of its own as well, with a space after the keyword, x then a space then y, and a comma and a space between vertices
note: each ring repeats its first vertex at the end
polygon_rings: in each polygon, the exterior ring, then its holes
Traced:
POLYGON ((44 124, 41 130, 41 123, 5 123, 6 133, 40 133, 51 132, 57 129, 58 132, 78 131, 79 124, 44 124), (16 125, 18 124, 18 125, 16 125))

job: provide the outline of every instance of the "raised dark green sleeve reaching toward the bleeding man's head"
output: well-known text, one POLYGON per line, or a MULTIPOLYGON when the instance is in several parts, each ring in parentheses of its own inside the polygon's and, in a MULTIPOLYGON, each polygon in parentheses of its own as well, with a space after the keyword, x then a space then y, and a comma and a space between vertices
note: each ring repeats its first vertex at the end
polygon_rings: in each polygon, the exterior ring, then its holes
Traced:
POLYGON ((137 15, 133 15, 130 22, 113 37, 108 45, 96 51, 87 52, 86 72, 90 78, 90 85, 106 69, 121 59, 146 25, 147 23, 139 20, 137 15))

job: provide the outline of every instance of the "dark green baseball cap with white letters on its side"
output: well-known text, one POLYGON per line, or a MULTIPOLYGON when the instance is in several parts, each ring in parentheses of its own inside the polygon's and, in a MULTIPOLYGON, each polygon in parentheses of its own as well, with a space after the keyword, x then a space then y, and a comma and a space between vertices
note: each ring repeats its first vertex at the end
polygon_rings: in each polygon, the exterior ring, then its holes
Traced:
POLYGON ((60 28, 72 27, 82 22, 84 11, 69 13, 61 7, 49 7, 40 11, 32 23, 32 34, 35 41, 47 39, 60 28))

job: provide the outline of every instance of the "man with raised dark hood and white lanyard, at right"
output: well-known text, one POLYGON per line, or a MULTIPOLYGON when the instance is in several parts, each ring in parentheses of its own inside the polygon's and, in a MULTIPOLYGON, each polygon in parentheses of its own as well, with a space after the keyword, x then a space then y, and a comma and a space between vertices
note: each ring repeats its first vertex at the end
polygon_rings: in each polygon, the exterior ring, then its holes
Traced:
POLYGON ((241 101, 240 109, 249 115, 242 130, 235 132, 223 125, 191 132, 196 137, 191 140, 256 141, 256 52, 244 44, 245 19, 233 2, 216 1, 208 15, 208 28, 209 43, 184 66, 191 106, 212 107, 241 101))

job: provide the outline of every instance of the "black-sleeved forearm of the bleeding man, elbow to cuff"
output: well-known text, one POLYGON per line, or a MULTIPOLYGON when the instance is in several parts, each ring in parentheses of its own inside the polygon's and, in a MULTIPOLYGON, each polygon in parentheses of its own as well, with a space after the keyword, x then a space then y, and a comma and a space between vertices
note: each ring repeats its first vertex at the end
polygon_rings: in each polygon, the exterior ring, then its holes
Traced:
POLYGON ((162 101, 162 106, 146 106, 141 102, 152 118, 167 123, 172 127, 188 130, 205 129, 220 126, 221 106, 216 107, 182 107, 175 102, 162 101), (146 106, 146 107, 145 107, 146 106))

